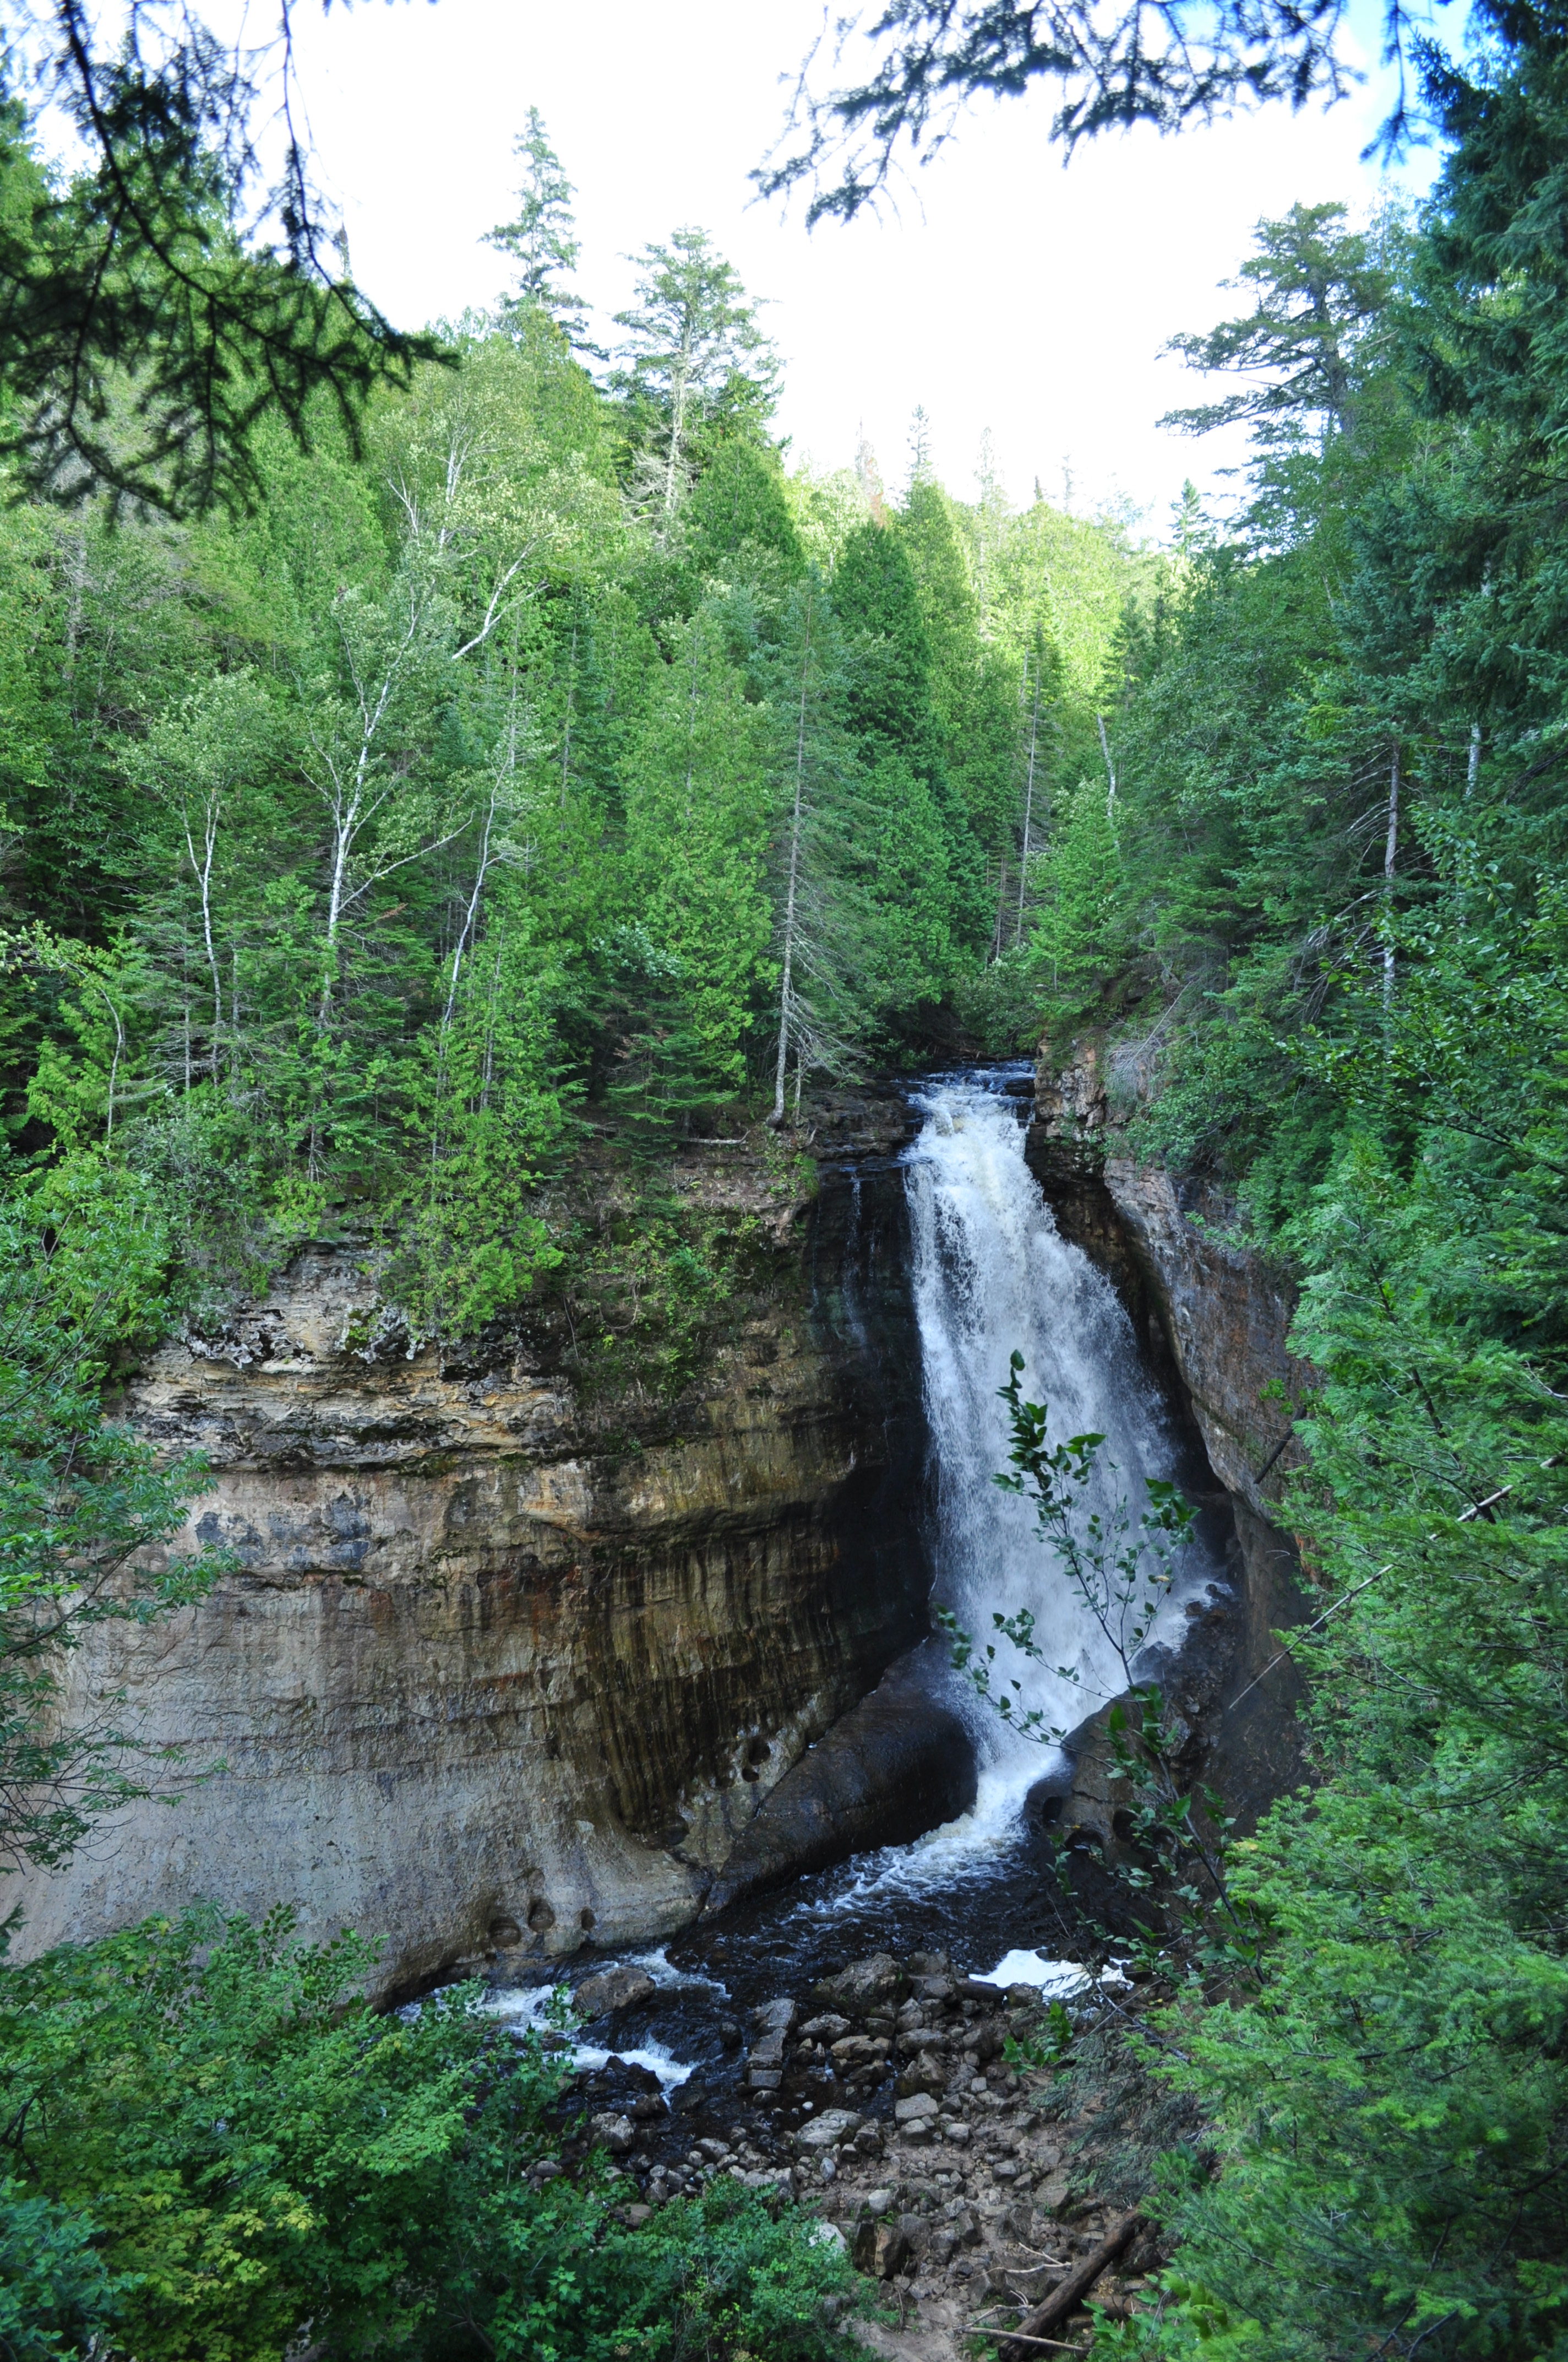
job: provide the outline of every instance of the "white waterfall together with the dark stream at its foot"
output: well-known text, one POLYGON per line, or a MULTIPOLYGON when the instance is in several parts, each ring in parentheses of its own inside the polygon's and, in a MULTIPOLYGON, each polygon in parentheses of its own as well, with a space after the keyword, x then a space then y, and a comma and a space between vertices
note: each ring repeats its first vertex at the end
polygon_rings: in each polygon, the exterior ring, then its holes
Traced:
MULTIPOLYGON (((999 1672, 1023 1679, 1020 1703, 1039 1705, 1051 1727, 1065 1729, 1124 1682, 1105 1635, 1034 1533, 1032 1505, 992 1481, 1008 1453, 999 1401, 1008 1356, 1025 1356, 1025 1394, 1051 1405, 1056 1438, 1105 1436, 1086 1514, 1108 1514, 1122 1493, 1136 1521, 1143 1486, 1181 1472, 1181 1443, 1110 1280, 1060 1238, 1025 1164, 1030 1084, 1025 1063, 912 1084, 919 1129, 900 1167, 930 1438, 933 1604, 952 1609, 980 1639, 992 1632, 992 1616, 1032 1609, 1048 1663, 1015 1660, 999 1672)), ((857 1318, 850 1287, 841 1320, 852 1330, 857 1318)), ((1219 1557, 1193 1542, 1155 1642, 1174 1639, 1185 1604, 1221 1580, 1219 1557)), ((1060 1760, 1058 1750, 1011 1731, 949 1658, 942 1637, 921 1644, 921 1677, 975 1738, 978 1795, 963 1819, 914 1845, 751 1897, 656 1951, 593 1953, 562 1970, 564 1982, 579 1984, 619 1958, 654 1982, 642 2003, 581 2036, 579 2064, 593 2076, 597 2107, 623 2105, 626 2090, 649 2090, 656 2076, 685 2119, 682 2128, 671 2123, 664 2142, 671 2154, 701 2131, 737 2123, 763 2142, 767 2133, 789 2140, 831 2093, 812 2100, 810 2079, 796 2079, 770 2100, 767 2121, 756 2112, 744 2090, 741 2027, 760 2003, 805 2001, 812 1984, 878 1951, 942 1956, 954 1977, 985 1975, 1018 1951, 1089 1953, 1086 1930, 1053 1875, 1048 1833, 1025 1814, 1030 1788, 1060 1760)), ((545 2001, 548 1986, 536 1986, 496 1991, 491 2005, 503 2020, 538 2024, 545 2001)), ((824 2069, 819 2081, 834 2079, 824 2069)), ((888 2116, 890 2079, 855 2105, 862 2116, 888 2116)), ((652 2157, 661 2142, 647 2135, 645 2147, 652 2157)))

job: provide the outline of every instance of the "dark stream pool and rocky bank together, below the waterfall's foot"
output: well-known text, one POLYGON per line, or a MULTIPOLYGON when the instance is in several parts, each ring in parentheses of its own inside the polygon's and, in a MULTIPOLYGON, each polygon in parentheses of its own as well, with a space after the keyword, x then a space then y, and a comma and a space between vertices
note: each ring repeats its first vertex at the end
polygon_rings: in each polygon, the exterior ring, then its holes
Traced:
MULTIPOLYGON (((564 1972, 581 2027, 562 2171, 602 2145, 628 2204, 718 2175, 808 2204, 881 2284, 871 2343, 940 2362, 1079 2272, 1138 2197, 1126 2093, 1096 2102, 1082 2079, 1008 2062, 1072 1986, 1041 1989, 1027 1956, 1105 1968, 1023 1819, 862 1857, 656 1951, 583 1953, 564 1972), (1013 1982, 982 1982, 997 1970, 1013 1982)), ((1136 2005, 1115 1968, 1110 1991, 1136 2005)), ((494 2005, 538 2024, 548 1996, 498 1989, 494 2005)), ((1096 2005, 1093 1982, 1072 2005, 1096 2005)), ((1136 2303, 1155 2263, 1136 2232, 1093 2303, 1136 2303)), ((1079 2305, 1058 2334, 1084 2327, 1079 2305)))

